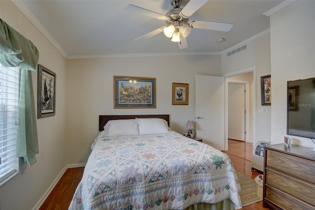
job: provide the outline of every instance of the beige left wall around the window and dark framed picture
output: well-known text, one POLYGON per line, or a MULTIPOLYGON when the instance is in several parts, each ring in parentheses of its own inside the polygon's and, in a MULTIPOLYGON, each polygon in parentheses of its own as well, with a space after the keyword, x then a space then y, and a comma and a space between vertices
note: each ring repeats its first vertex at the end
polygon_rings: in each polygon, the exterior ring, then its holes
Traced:
MULTIPOLYGON (((0 17, 30 39, 39 50, 39 64, 57 74, 56 115, 37 119, 39 154, 29 167, 23 163, 21 173, 0 188, 1 210, 31 210, 65 166, 61 160, 65 142, 65 59, 30 23, 11 1, 0 1, 0 17)), ((37 107, 37 72, 32 72, 35 106, 37 107)))

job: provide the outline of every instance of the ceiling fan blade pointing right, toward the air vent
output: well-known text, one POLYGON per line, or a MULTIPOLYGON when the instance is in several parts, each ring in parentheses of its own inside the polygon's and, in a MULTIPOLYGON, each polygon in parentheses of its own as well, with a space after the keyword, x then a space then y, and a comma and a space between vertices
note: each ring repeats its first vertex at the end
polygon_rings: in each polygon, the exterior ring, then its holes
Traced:
POLYGON ((191 21, 189 22, 191 28, 197 29, 208 29, 221 32, 228 32, 232 29, 233 24, 231 23, 218 23, 218 22, 207 22, 207 21, 191 21))

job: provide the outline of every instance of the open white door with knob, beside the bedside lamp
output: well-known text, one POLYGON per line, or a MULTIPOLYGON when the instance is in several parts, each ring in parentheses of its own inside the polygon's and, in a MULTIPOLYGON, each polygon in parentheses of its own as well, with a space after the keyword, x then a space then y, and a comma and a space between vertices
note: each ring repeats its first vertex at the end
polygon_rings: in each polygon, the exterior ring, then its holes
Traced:
POLYGON ((196 75, 196 137, 224 150, 224 77, 196 75))

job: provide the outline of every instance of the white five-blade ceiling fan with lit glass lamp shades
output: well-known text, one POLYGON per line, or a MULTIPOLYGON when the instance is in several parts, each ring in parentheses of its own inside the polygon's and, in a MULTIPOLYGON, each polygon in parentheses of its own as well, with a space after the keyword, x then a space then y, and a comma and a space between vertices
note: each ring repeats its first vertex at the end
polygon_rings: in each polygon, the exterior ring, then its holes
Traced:
POLYGON ((173 6, 173 9, 167 11, 165 15, 132 4, 126 5, 124 9, 149 17, 157 18, 159 20, 164 20, 167 25, 162 26, 146 35, 140 36, 135 40, 141 38, 150 38, 154 35, 158 35, 159 33, 164 32, 164 35, 168 38, 171 38, 171 41, 178 42, 180 49, 185 49, 188 47, 186 37, 189 36, 191 28, 228 32, 233 27, 233 24, 230 23, 195 20, 189 21, 189 16, 191 16, 207 1, 208 0, 189 0, 184 8, 180 8, 182 0, 172 0, 171 5, 173 6))

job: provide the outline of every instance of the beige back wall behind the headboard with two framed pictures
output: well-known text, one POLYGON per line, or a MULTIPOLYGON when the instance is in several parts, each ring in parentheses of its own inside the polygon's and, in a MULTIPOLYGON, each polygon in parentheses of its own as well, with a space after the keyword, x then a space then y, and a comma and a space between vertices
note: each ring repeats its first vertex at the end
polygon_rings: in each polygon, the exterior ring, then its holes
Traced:
POLYGON ((185 133, 195 118, 195 75, 221 75, 221 55, 67 60, 67 164, 86 163, 98 134, 98 115, 170 114, 185 133), (114 109, 113 75, 155 77, 157 108, 114 109), (189 105, 172 105, 172 83, 189 83, 189 105))

